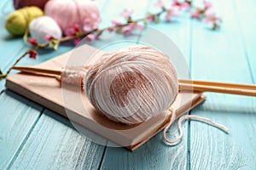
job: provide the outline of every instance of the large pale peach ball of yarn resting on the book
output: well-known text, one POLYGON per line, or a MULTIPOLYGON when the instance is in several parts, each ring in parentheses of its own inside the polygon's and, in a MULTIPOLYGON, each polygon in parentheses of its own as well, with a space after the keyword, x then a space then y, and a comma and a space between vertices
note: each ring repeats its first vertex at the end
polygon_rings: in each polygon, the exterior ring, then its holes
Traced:
POLYGON ((133 45, 109 52, 91 65, 84 80, 94 107, 115 122, 137 124, 166 111, 178 92, 168 56, 133 45))

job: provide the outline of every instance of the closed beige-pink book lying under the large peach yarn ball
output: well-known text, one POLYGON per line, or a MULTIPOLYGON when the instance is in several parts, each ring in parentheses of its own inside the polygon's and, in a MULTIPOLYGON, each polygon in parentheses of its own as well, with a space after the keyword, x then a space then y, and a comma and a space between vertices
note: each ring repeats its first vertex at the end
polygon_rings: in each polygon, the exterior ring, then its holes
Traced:
MULTIPOLYGON (((97 50, 89 45, 84 45, 82 48, 88 51, 88 54, 97 50)), ((67 60, 72 53, 73 51, 69 51, 36 66, 48 69, 63 68, 67 65, 67 60)), ((17 73, 7 77, 6 87, 61 116, 66 116, 74 124, 79 124, 80 127, 85 127, 90 132, 100 134, 102 137, 130 150, 136 150, 156 133, 160 133, 170 121, 172 114, 170 111, 164 111, 146 122, 131 126, 113 122, 100 114, 90 104, 85 93, 78 94, 76 90, 73 90, 73 86, 66 90, 65 95, 68 96, 63 97, 61 82, 55 77, 17 73), (69 98, 68 101, 65 100, 67 97, 69 98), (81 98, 82 105, 78 104, 77 99, 74 99, 77 97, 81 98)), ((179 117, 199 105, 204 99, 205 96, 201 93, 181 92, 177 94, 172 109, 179 117)))

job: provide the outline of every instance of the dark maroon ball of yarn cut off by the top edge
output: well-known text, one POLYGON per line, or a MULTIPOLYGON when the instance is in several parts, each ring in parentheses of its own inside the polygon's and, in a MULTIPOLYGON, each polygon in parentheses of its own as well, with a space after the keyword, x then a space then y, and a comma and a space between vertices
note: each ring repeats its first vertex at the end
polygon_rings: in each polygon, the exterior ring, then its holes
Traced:
POLYGON ((49 0, 14 0, 14 6, 16 9, 35 6, 44 9, 45 3, 49 0))

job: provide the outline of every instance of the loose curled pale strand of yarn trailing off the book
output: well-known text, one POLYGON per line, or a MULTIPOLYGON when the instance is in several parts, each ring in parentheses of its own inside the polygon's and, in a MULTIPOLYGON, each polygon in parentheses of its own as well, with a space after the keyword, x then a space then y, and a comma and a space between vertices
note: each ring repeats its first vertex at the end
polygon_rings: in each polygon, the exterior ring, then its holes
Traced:
POLYGON ((170 140, 166 137, 166 131, 171 127, 172 123, 175 121, 176 118, 176 114, 175 112, 172 111, 172 118, 171 121, 168 123, 168 125, 166 126, 166 128, 164 129, 163 132, 163 138, 165 139, 165 141, 169 144, 178 144, 181 139, 183 138, 183 127, 182 127, 182 123, 187 120, 187 119, 193 119, 193 120, 197 120, 200 122, 205 122, 208 123, 210 125, 212 125, 213 127, 218 127, 219 129, 223 130, 225 133, 229 133, 228 128, 225 127, 222 124, 219 124, 218 122, 213 122, 211 119, 208 119, 207 117, 202 117, 202 116, 195 116, 195 115, 183 115, 178 119, 177 125, 178 125, 178 131, 179 131, 179 136, 177 137, 177 139, 174 140, 170 140))

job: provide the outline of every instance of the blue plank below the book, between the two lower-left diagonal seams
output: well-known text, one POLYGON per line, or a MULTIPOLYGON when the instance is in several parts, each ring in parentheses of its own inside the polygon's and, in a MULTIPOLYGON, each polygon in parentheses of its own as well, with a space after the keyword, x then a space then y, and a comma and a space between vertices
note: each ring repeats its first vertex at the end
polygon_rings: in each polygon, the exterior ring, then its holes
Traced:
POLYGON ((73 129, 69 120, 46 110, 11 168, 97 169, 103 149, 73 129))

